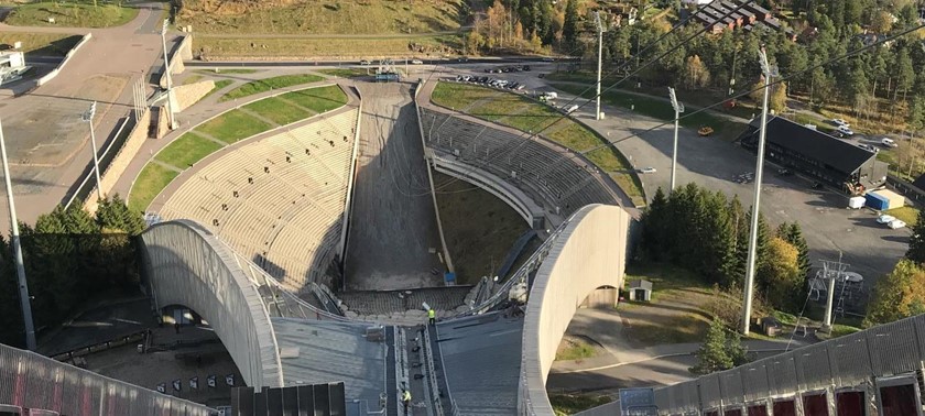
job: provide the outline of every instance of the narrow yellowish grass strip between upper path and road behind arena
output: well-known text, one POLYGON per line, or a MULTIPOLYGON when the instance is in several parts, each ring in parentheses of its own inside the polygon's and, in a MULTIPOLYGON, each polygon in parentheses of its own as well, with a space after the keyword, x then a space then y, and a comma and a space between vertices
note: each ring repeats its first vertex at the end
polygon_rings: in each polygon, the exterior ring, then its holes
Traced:
MULTIPOLYGON (((194 26, 195 28, 195 26, 194 26)), ((196 47, 203 56, 218 58, 362 58, 409 56, 410 44, 420 45, 423 54, 442 55, 461 47, 458 35, 431 35, 414 37, 215 37, 199 35, 196 47), (266 47, 264 47, 266 46, 266 47)), ((418 54, 416 54, 418 55, 418 54)))

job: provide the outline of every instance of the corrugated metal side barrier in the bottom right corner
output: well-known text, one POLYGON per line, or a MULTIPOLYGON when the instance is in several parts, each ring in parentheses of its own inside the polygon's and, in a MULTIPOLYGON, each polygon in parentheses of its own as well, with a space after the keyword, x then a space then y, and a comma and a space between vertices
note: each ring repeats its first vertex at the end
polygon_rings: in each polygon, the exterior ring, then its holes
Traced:
MULTIPOLYGON (((655 403, 662 415, 762 408, 810 414, 812 405, 827 406, 827 414, 862 406, 866 414, 888 409, 880 414, 922 416, 923 360, 925 315, 663 387, 655 391, 655 403), (850 404, 842 397, 847 394, 850 404), (812 404, 809 396, 823 398, 812 404)), ((772 412, 777 410, 764 414, 772 412)))

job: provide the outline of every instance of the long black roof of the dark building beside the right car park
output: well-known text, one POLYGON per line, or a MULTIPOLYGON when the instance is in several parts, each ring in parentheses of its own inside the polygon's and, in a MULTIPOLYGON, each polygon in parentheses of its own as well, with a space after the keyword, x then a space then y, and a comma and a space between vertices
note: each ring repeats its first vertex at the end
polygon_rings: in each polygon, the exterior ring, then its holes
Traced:
MULTIPOLYGON (((749 123, 750 130, 746 135, 758 133, 760 124, 760 118, 752 120, 749 123)), ((844 173, 852 173, 875 157, 873 153, 851 143, 781 117, 773 117, 768 120, 768 141, 825 163, 844 173)))

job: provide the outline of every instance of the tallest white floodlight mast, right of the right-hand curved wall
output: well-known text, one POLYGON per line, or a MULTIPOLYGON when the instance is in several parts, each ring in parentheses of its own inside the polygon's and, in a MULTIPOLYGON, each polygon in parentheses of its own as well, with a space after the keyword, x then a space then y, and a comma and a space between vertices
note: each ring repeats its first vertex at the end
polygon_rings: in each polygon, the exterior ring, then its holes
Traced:
POLYGON ((754 200, 752 201, 751 230, 749 231, 749 258, 746 269, 744 299, 742 300, 742 335, 749 335, 751 320, 751 300, 754 286, 755 245, 758 245, 758 216, 761 201, 761 174, 764 169, 764 140, 768 136, 768 98, 771 94, 771 78, 777 76, 777 68, 768 64, 764 47, 758 51, 761 62, 761 73, 764 75, 764 99, 761 105, 761 130, 758 135, 758 161, 754 166, 754 200))

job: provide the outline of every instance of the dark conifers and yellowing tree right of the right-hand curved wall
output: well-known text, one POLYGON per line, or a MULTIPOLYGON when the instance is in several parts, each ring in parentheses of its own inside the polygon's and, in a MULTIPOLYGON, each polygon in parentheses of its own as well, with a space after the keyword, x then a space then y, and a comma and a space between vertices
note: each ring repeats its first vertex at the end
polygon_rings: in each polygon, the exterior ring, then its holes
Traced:
MULTIPOLYGON (((670 196, 660 188, 642 214, 641 255, 668 262, 720 287, 742 287, 748 260, 751 210, 694 183, 670 196)), ((806 298, 809 249, 799 225, 772 231, 758 218, 755 291, 776 309, 798 313, 806 298)))

